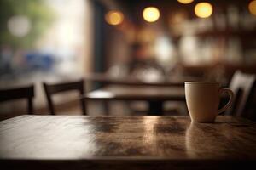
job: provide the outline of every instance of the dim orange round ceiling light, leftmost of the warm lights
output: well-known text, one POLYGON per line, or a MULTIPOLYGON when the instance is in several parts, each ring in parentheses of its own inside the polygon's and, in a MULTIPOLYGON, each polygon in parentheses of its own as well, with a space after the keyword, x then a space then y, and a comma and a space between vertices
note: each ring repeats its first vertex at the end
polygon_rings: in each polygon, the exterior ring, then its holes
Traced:
POLYGON ((109 11, 105 15, 105 20, 108 22, 108 24, 117 26, 123 22, 124 14, 119 11, 109 11))

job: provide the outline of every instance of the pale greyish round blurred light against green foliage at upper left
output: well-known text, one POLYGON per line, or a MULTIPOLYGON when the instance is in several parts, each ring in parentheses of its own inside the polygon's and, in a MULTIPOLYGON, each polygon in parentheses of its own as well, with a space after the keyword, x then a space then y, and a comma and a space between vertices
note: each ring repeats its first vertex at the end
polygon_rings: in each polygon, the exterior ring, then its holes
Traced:
POLYGON ((7 23, 9 32, 15 37, 25 37, 31 31, 31 21, 25 15, 12 16, 7 23))

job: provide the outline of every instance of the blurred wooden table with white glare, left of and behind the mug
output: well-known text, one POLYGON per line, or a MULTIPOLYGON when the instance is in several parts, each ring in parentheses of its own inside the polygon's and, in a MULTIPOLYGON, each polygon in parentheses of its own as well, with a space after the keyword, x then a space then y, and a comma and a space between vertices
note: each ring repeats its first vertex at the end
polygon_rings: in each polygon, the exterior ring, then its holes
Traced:
POLYGON ((100 100, 144 100, 148 102, 149 115, 162 115, 165 101, 185 101, 185 92, 182 87, 151 87, 109 85, 99 88, 83 97, 100 100))

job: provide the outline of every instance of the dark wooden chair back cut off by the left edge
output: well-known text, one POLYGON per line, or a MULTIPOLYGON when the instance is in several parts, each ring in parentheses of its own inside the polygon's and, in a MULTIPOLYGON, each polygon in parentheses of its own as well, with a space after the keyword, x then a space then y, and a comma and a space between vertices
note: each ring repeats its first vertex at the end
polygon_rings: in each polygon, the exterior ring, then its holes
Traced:
POLYGON ((33 113, 32 99, 34 97, 34 86, 27 86, 22 88, 9 88, 0 90, 0 102, 27 99, 27 113, 33 113))

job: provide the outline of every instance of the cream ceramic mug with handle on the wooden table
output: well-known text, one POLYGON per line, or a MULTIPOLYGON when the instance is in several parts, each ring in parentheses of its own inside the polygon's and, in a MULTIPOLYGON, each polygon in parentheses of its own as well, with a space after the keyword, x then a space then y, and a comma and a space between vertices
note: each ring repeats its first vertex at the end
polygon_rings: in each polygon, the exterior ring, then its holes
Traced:
POLYGON ((219 113, 230 107, 234 94, 229 88, 221 88, 221 82, 185 82, 185 96, 192 122, 214 122, 219 113), (230 95, 230 100, 218 110, 223 92, 230 95))

